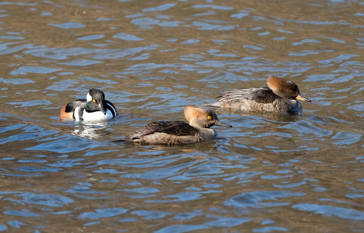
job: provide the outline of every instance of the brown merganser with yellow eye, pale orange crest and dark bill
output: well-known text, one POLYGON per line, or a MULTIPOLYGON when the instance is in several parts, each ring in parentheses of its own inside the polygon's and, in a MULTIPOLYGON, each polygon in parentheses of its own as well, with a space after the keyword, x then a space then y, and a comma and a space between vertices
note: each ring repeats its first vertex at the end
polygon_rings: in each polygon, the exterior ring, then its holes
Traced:
POLYGON ((189 124, 183 121, 149 123, 126 136, 122 141, 168 145, 189 144, 217 137, 216 131, 210 129, 211 126, 232 127, 219 121, 213 111, 201 106, 187 106, 185 117, 189 124))

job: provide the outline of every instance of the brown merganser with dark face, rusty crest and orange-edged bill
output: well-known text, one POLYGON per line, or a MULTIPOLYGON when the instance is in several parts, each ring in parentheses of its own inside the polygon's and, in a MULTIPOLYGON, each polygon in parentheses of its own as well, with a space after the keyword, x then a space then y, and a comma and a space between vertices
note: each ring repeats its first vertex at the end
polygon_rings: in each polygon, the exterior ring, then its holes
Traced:
POLYGON ((213 107, 234 108, 243 111, 277 112, 282 114, 302 114, 299 100, 311 102, 303 97, 296 83, 270 76, 268 87, 242 88, 226 91, 218 102, 205 104, 213 107))

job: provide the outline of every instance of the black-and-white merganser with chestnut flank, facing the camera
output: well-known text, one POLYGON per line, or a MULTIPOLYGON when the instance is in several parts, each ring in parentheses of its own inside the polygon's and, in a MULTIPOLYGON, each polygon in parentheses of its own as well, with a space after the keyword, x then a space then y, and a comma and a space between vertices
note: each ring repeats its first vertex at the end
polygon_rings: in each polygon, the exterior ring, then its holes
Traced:
POLYGON ((78 99, 63 106, 60 119, 75 119, 76 121, 107 121, 117 116, 114 104, 105 100, 104 92, 99 89, 88 91, 86 99, 78 99))

